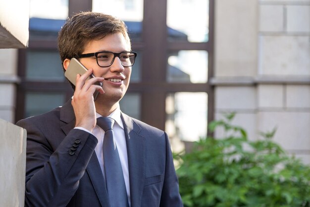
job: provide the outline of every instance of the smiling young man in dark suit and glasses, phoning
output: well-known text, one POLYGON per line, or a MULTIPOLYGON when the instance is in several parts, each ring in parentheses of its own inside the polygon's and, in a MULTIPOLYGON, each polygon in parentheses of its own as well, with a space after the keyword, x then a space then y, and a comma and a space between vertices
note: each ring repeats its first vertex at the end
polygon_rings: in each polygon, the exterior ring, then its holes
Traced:
POLYGON ((64 106, 17 123, 27 130, 25 207, 182 207, 167 135, 119 109, 135 59, 124 22, 76 14, 59 32, 58 49, 64 70, 72 58, 89 70, 77 75, 64 106), (97 118, 112 120, 113 133, 97 118), (106 140, 116 144, 112 164, 106 140))

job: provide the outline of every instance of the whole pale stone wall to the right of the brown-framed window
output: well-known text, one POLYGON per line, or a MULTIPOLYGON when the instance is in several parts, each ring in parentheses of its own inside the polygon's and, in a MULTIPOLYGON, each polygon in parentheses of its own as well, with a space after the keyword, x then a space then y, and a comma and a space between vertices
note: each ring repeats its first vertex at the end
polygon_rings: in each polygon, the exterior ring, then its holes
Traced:
POLYGON ((310 0, 216 0, 214 48, 215 118, 310 163, 310 0))

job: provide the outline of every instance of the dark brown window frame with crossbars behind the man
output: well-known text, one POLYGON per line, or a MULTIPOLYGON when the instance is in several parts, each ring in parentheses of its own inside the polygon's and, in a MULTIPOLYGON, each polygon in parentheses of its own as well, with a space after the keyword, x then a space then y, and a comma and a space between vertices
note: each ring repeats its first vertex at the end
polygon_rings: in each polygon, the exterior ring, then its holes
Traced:
MULTIPOLYGON (((167 0, 144 0, 142 38, 132 40, 132 50, 142 51, 143 54, 152 54, 152 58, 146 55, 142 56, 141 80, 131 82, 127 93, 136 92, 141 95, 141 121, 164 130, 167 94, 173 92, 207 92, 207 123, 209 123, 214 118, 214 90, 209 81, 213 76, 214 0, 209 0, 208 41, 202 43, 171 42, 168 40, 166 4, 167 0), (178 50, 207 51, 207 83, 170 83, 166 81, 167 54, 170 51, 178 50)), ((92 0, 69 0, 68 6, 69 14, 88 11, 92 10, 92 0)), ((30 39, 29 49, 57 50, 57 40, 30 39)), ((16 107, 15 121, 24 118, 25 93, 27 91, 65 92, 66 99, 69 99, 73 94, 72 88, 66 81, 47 84, 46 82, 26 80, 26 53, 27 49, 18 50, 18 75, 21 81, 17 85, 16 103, 18 107, 16 107)))

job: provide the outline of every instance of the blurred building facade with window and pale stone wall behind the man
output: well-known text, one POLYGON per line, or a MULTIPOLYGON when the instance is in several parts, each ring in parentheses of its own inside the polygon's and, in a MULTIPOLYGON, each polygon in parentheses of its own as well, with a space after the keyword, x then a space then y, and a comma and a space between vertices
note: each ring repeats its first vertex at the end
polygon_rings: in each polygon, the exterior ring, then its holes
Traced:
POLYGON ((30 0, 29 47, 0 49, 1 119, 72 96, 57 33, 91 10, 125 21, 138 52, 121 110, 165 130, 174 151, 236 112, 250 139, 276 127, 274 139, 310 163, 310 0, 30 0))

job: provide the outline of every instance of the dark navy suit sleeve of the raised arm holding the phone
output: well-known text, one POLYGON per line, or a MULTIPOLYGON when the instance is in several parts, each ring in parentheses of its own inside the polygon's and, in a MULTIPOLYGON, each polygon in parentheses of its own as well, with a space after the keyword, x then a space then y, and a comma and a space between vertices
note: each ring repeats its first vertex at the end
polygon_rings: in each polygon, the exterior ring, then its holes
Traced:
POLYGON ((64 138, 59 138, 60 132, 46 135, 31 119, 17 125, 27 130, 25 207, 65 207, 79 186, 97 138, 79 129, 64 138), (50 143, 55 140, 47 136, 60 139, 56 149, 50 143))

